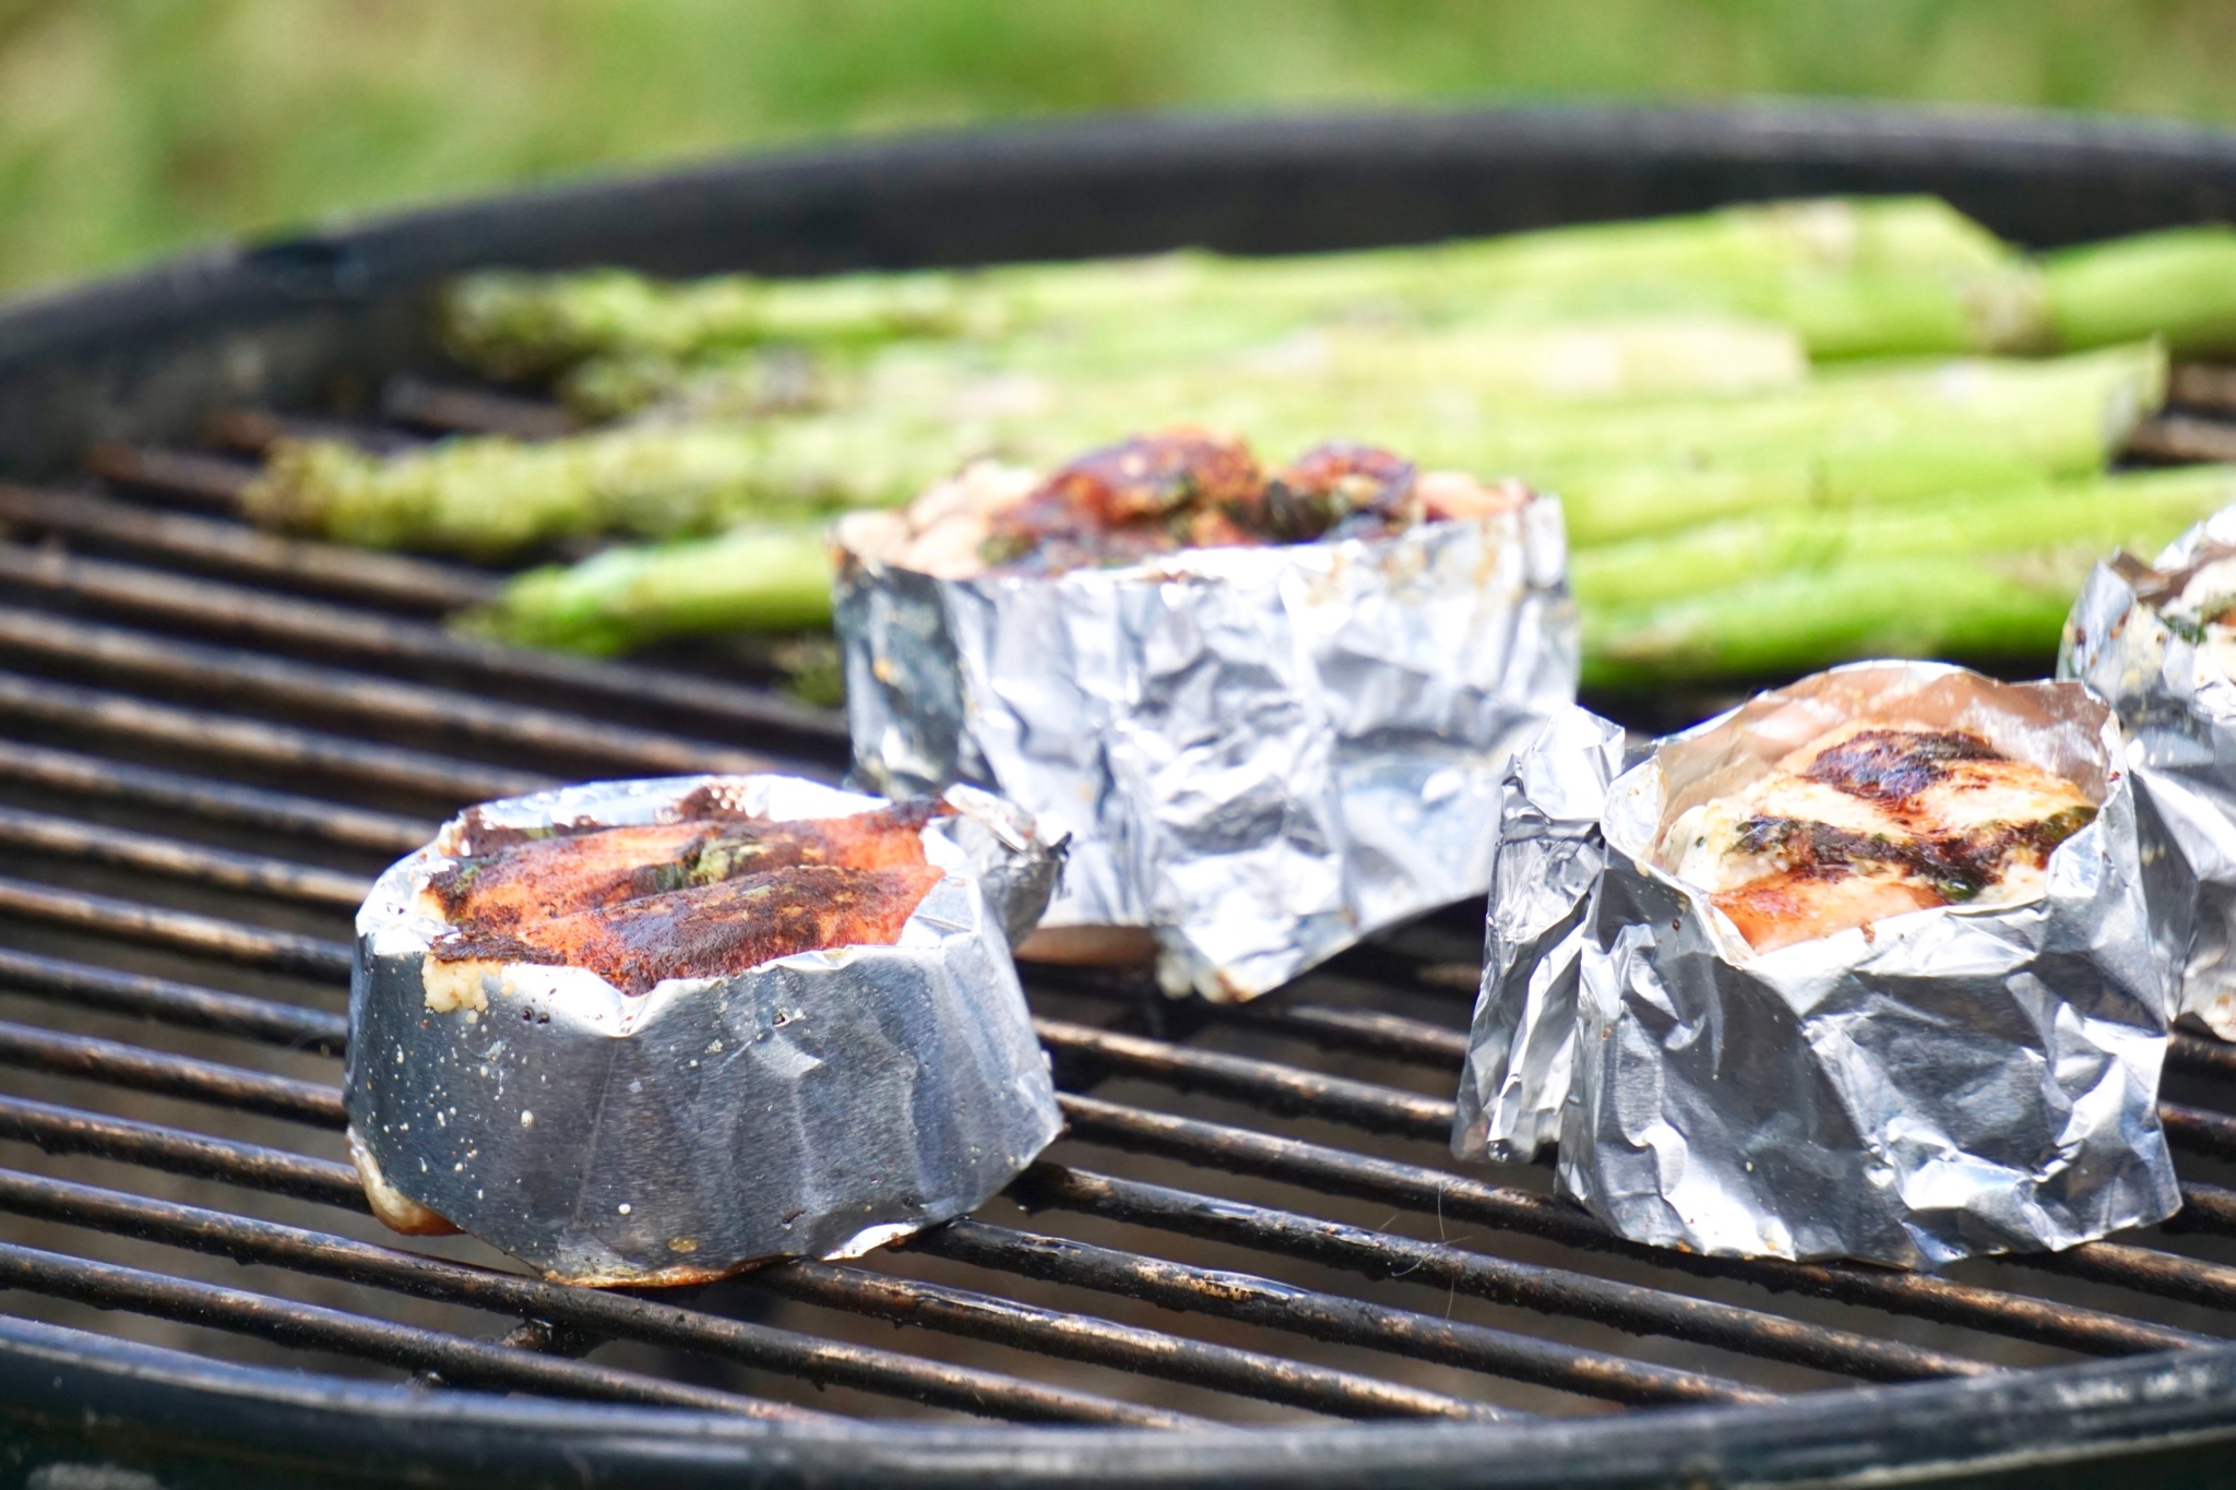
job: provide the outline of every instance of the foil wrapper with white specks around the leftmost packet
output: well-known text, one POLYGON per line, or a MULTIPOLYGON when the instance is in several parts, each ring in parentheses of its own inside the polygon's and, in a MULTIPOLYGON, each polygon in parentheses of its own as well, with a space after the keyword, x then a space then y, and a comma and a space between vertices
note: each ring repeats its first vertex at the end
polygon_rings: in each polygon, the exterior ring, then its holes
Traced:
MULTIPOLYGON (((501 827, 669 820, 722 784, 767 818, 874 797, 771 775, 597 782, 479 809, 501 827)), ((1062 1119, 1006 923, 1029 927, 1060 842, 975 791, 923 829, 948 876, 890 947, 841 947, 622 994, 514 963, 485 1007, 429 1007, 443 923, 418 889, 458 822, 358 911, 351 1155, 385 1215, 425 1206, 550 1278, 678 1284, 778 1255, 847 1258, 964 1215, 1062 1119)))

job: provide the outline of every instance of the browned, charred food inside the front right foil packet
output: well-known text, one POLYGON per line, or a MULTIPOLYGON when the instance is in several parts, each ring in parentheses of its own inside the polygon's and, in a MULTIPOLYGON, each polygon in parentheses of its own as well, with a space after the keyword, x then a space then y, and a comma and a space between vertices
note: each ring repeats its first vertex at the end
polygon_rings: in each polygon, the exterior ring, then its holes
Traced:
POLYGON ((1934 905, 2030 900, 2050 851, 2093 820, 2079 786, 1981 735, 1851 719, 1681 813, 1659 860, 1769 952, 1934 905))

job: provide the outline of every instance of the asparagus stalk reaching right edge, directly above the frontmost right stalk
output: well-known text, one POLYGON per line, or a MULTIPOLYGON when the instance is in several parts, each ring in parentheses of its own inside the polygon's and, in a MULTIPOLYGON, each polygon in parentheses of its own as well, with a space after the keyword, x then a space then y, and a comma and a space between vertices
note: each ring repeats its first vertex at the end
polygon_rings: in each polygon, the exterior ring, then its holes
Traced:
POLYGON ((1619 634, 1639 612, 1773 574, 2071 545, 2156 554, 2227 505, 2236 505, 2236 467, 2205 465, 1952 491, 1925 509, 1737 518, 1581 550, 1570 556, 1570 588, 1590 634, 1619 634))

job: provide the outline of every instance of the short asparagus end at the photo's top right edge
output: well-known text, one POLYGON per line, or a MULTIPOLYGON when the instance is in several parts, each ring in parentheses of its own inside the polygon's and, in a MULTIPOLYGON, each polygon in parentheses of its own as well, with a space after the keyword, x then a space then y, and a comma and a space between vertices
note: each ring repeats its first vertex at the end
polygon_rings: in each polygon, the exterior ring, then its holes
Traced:
POLYGON ((2158 335, 2180 355, 2236 351, 2236 228, 2173 228, 2044 259, 2064 346, 2158 335))

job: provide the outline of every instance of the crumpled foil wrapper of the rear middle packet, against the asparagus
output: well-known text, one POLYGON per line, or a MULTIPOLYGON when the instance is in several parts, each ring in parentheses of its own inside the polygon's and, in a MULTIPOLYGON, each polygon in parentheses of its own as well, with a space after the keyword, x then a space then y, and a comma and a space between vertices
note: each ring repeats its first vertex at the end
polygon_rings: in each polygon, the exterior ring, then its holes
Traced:
POLYGON ((856 775, 1071 833, 1046 927, 1152 927, 1252 999, 1480 894, 1507 755, 1576 695, 1558 503, 1377 541, 932 579, 847 543, 856 775))

